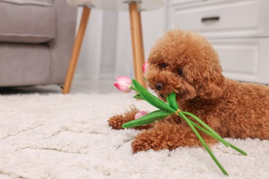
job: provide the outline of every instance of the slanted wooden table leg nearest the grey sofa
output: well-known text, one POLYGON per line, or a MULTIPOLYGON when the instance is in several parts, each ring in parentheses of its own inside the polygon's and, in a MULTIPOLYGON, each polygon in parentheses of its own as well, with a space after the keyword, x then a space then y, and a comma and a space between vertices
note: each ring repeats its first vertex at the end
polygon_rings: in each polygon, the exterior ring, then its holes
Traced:
POLYGON ((81 21, 79 24, 79 30, 77 32, 77 37, 74 41, 74 47, 72 50, 72 56, 70 59, 68 72, 66 74, 66 81, 64 82, 64 86, 63 86, 63 91, 62 91, 63 94, 68 94, 70 92, 70 87, 72 84, 74 71, 76 70, 76 67, 77 67, 77 61, 79 59, 79 52, 81 50, 83 36, 87 28, 89 17, 90 17, 90 8, 84 6, 82 16, 81 16, 81 21))

